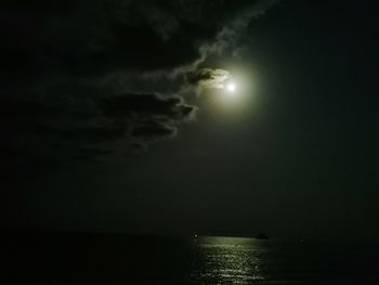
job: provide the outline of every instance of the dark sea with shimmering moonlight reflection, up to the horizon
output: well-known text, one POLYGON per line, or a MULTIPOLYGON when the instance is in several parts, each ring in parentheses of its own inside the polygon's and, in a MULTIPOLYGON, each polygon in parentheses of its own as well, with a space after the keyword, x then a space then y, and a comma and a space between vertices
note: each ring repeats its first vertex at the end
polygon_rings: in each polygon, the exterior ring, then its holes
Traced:
POLYGON ((379 284, 365 243, 3 234, 2 284, 379 284))

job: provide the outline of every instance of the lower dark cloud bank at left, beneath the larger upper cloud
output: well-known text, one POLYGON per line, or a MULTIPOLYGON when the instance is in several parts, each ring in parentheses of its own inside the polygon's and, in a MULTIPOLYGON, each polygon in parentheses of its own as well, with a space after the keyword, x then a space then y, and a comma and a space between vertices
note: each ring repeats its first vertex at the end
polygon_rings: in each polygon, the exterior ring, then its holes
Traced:
POLYGON ((2 150, 15 163, 37 157, 58 163, 145 147, 172 138, 178 126, 196 113, 179 96, 134 93, 71 102, 63 109, 26 100, 9 101, 2 108, 2 150))

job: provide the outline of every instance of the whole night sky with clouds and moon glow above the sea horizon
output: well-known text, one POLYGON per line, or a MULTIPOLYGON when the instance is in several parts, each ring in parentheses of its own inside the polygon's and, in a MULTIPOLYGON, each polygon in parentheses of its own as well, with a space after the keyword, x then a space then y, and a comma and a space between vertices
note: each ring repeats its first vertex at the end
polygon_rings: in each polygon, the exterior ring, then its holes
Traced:
POLYGON ((4 1, 2 229, 378 239, 374 3, 4 1))

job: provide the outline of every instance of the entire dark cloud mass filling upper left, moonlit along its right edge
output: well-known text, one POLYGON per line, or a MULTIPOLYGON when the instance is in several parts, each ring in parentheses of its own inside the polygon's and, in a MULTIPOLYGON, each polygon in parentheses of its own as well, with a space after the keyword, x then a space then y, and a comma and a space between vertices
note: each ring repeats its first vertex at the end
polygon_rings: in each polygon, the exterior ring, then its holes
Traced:
POLYGON ((183 90, 226 74, 199 65, 233 51, 272 2, 3 1, 4 157, 91 157, 174 137, 197 109, 183 90))

